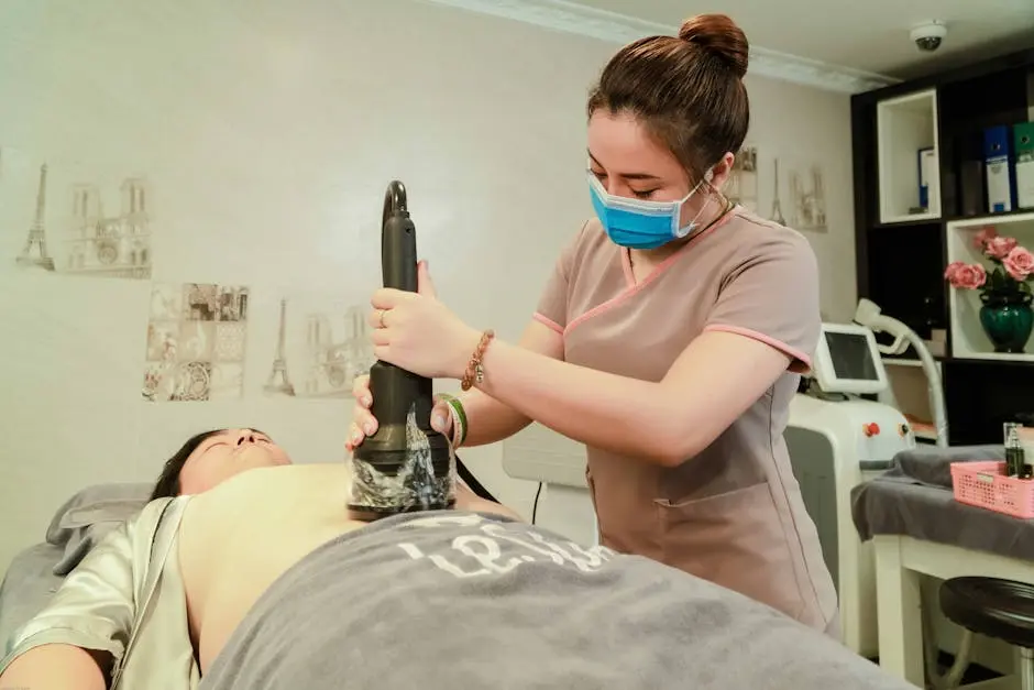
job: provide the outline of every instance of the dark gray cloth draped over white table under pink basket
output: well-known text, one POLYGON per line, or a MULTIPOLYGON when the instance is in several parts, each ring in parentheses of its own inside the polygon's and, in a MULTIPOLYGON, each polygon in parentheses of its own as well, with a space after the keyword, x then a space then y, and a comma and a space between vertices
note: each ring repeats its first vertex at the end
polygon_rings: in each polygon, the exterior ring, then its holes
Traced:
POLYGON ((952 463, 1003 460, 1001 446, 920 447, 900 452, 886 474, 851 490, 851 516, 861 539, 903 535, 1034 560, 1034 521, 959 503, 952 463))

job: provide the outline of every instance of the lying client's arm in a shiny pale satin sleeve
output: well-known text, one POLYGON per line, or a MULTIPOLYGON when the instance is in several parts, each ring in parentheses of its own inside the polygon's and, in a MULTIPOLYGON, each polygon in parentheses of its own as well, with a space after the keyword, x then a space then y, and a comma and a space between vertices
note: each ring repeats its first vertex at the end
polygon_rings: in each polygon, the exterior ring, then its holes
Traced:
POLYGON ((140 522, 129 521, 94 547, 46 607, 18 631, 0 660, 0 689, 107 687, 135 620, 140 522))

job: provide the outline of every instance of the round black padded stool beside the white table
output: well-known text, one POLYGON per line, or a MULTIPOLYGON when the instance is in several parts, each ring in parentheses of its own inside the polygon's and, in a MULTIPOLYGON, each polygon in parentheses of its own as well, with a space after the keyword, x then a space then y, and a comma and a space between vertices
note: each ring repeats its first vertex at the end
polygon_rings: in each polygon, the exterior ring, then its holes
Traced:
POLYGON ((1020 682, 1034 690, 1034 587, 996 578, 954 578, 941 585, 941 610, 978 635, 1020 648, 1020 682))

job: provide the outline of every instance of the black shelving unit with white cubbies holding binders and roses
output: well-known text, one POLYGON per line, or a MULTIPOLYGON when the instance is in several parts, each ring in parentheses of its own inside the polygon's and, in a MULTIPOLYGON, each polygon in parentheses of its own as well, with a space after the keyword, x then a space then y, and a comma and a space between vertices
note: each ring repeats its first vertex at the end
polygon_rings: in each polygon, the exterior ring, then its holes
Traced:
POLYGON ((944 281, 953 252, 985 221, 1026 233, 1034 249, 1034 208, 988 212, 982 155, 986 128, 1032 120, 1031 108, 1034 50, 851 98, 858 295, 923 338, 947 332, 938 360, 952 445, 1001 442, 1003 421, 1034 424, 1034 338, 1028 354, 982 351, 979 328, 963 322, 970 296, 944 281), (927 146, 936 188, 920 208, 917 151, 927 146))

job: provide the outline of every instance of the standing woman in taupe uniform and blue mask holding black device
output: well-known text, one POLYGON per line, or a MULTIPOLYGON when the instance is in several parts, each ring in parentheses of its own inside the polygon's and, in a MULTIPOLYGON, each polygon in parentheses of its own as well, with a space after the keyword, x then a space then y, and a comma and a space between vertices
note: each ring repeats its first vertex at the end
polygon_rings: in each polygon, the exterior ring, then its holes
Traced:
MULTIPOLYGON (((518 344, 435 295, 381 289, 376 357, 462 381, 432 424, 457 446, 538 421, 587 448, 603 545, 838 635, 783 429, 820 337, 815 256, 721 191, 749 120, 747 40, 705 14, 622 48, 588 99, 596 218, 566 247, 518 344)), ((349 447, 376 430, 355 383, 349 447)))

